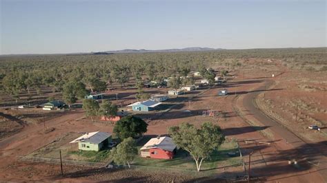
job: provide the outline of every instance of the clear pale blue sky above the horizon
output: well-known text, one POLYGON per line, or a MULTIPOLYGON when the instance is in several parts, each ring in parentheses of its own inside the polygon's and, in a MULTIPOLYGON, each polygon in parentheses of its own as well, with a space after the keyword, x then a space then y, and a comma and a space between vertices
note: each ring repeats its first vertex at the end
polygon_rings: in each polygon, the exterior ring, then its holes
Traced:
POLYGON ((0 54, 326 47, 326 0, 0 0, 0 54))

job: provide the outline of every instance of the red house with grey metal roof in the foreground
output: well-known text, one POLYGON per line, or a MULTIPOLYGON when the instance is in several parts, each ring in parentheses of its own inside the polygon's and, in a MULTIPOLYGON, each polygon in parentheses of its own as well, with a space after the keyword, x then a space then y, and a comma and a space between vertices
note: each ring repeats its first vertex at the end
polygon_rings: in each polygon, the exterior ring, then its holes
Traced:
POLYGON ((170 137, 151 138, 141 147, 141 157, 170 160, 174 157, 176 145, 170 137))

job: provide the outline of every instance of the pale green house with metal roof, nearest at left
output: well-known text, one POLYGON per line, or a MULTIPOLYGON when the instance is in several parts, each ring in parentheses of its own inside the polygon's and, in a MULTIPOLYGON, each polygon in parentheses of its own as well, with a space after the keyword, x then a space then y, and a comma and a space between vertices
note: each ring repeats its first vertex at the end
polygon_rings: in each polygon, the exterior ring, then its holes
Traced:
POLYGON ((106 132, 90 132, 79 138, 72 140, 70 143, 78 143, 79 150, 83 151, 101 151, 106 149, 111 142, 111 134, 106 132))

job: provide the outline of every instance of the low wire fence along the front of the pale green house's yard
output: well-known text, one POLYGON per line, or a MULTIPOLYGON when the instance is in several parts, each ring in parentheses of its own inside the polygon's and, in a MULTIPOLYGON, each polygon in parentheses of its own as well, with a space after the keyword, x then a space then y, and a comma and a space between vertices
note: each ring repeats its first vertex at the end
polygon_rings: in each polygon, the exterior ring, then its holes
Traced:
MULTIPOLYGON (((46 162, 52 164, 60 164, 60 159, 53 159, 53 158, 35 158, 35 157, 17 155, 17 160, 25 161, 25 162, 46 162)), ((81 162, 81 161, 74 161, 74 160, 62 160, 62 162, 63 164, 90 166, 90 167, 104 167, 107 164, 104 162, 81 162)))

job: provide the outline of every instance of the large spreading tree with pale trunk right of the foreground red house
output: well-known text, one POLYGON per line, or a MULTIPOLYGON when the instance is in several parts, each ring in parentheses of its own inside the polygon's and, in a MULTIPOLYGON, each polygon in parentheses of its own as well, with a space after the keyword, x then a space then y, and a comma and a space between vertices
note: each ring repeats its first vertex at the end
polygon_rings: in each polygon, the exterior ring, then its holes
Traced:
POLYGON ((168 131, 177 147, 190 153, 197 164, 197 171, 201 170, 203 160, 209 159, 212 152, 225 140, 220 127, 211 122, 205 122, 200 129, 189 123, 182 123, 178 127, 170 127, 168 131))

